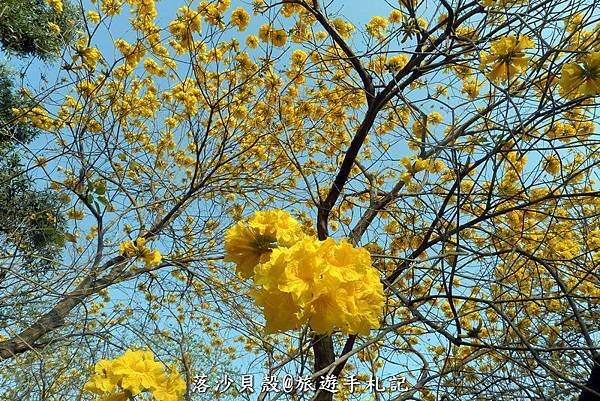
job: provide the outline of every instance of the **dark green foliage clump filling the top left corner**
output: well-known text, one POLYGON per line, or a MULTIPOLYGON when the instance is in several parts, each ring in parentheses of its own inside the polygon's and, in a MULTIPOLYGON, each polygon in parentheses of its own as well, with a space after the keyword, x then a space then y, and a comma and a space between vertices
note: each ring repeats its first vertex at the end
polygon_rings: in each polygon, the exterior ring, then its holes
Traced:
POLYGON ((55 12, 43 0, 2 0, 0 2, 0 45, 9 54, 51 60, 74 37, 79 10, 65 2, 55 12), (49 28, 58 25, 60 34, 49 28))

